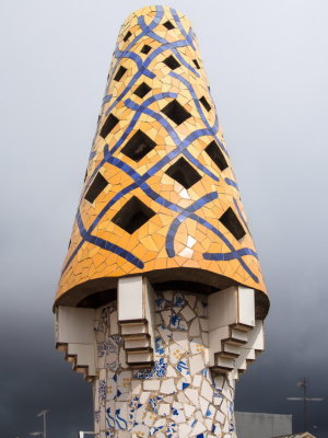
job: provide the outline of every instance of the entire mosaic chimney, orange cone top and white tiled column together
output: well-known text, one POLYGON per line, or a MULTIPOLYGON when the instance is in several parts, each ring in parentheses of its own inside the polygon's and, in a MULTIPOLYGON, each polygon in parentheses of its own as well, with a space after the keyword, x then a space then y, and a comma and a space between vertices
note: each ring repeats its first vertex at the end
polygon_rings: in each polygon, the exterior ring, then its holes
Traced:
POLYGON ((190 22, 124 23, 55 299, 98 437, 235 437, 269 300, 190 22))

